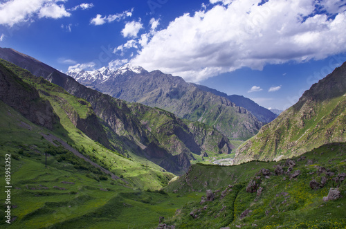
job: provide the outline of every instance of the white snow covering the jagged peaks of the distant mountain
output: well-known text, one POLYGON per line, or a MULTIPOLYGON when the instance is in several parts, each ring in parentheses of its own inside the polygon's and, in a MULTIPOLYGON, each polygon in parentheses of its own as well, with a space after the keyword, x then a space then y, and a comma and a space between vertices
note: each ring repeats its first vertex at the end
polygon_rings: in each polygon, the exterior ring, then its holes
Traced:
POLYGON ((125 64, 120 68, 113 70, 109 67, 102 67, 95 71, 84 71, 80 68, 75 68, 71 71, 66 72, 66 75, 73 77, 80 83, 102 83, 109 80, 111 77, 118 77, 119 75, 123 75, 127 72, 129 73, 143 73, 145 70, 140 66, 131 66, 131 64, 125 64))

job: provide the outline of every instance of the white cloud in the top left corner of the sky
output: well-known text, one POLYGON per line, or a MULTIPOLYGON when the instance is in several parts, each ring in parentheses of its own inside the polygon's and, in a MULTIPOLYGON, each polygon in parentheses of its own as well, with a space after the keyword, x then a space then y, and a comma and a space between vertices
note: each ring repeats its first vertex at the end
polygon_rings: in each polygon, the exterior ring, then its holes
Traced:
POLYGON ((15 24, 34 21, 37 17, 61 18, 71 14, 60 3, 62 0, 9 0, 0 3, 0 24, 14 26, 15 24))

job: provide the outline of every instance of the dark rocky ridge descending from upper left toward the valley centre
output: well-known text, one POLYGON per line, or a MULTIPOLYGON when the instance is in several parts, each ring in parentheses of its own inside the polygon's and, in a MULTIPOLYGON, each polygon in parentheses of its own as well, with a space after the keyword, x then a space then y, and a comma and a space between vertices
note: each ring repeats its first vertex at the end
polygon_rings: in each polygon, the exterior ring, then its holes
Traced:
MULTIPOLYGON (((23 68, 37 72, 40 74, 39 76, 62 86, 68 93, 82 98, 86 104, 90 105, 92 110, 91 115, 86 116, 86 118, 95 120, 89 123, 95 123, 99 126, 89 125, 88 132, 82 128, 83 125, 78 116, 72 113, 70 118, 74 120, 75 126, 89 133, 88 136, 93 140, 98 140, 105 147, 115 149, 125 156, 138 158, 140 161, 147 158, 157 165, 161 165, 165 170, 180 174, 190 166, 190 160, 194 159, 193 154, 227 154, 234 148, 225 136, 207 125, 200 126, 193 122, 182 122, 179 118, 170 114, 169 116, 174 122, 168 123, 176 127, 174 131, 170 132, 171 127, 166 128, 169 126, 167 123, 159 122, 159 120, 165 120, 167 112, 145 106, 132 106, 122 100, 86 88, 86 86, 82 86, 82 84, 73 80, 72 77, 11 49, 1 48, 0 56, 6 57, 9 61, 22 64, 23 68), (141 116, 138 116, 138 113, 141 113, 141 116), (151 115, 147 116, 146 113, 151 113, 151 115), (141 117, 144 116, 145 120, 142 120, 141 117), (155 132, 150 130, 151 127, 148 127, 146 122, 156 123, 155 132), (158 123, 161 123, 161 126, 158 126, 158 123), (196 126, 200 126, 199 131, 196 130, 196 126), (95 131, 94 134, 91 133, 92 130, 98 131, 101 129, 102 131, 104 129, 104 133, 107 134, 95 134, 95 131), (210 134, 210 129, 215 133, 212 137, 206 136, 210 134), (160 136, 157 133, 161 133, 161 136, 170 136, 170 144, 166 144, 167 142, 159 138, 160 136), (195 145, 197 148, 191 147, 191 145, 195 145)), ((83 100, 80 102, 83 103, 83 100)), ((64 102, 64 100, 61 100, 61 102, 64 102)), ((69 110, 69 108, 66 108, 66 110, 69 110)))

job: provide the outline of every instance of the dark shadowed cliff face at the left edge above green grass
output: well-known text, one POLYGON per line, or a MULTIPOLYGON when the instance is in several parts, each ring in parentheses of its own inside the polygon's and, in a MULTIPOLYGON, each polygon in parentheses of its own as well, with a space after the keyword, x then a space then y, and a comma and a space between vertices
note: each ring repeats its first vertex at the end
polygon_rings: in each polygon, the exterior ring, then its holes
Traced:
POLYGON ((31 122, 53 129, 57 116, 51 104, 39 98, 35 88, 26 84, 10 69, 0 64, 0 99, 31 122))

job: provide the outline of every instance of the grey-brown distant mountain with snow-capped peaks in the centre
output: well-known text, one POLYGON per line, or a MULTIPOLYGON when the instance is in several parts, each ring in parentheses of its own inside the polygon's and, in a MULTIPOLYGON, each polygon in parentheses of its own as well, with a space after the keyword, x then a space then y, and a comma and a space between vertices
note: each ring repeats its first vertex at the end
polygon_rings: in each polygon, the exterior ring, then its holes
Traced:
MULTIPOLYGON (((220 96, 212 89, 200 89, 196 84, 189 84, 181 77, 167 75, 161 71, 149 73, 140 66, 127 64, 116 71, 108 69, 108 75, 98 76, 100 80, 95 80, 96 77, 93 75, 100 75, 104 71, 102 69, 94 72, 75 70, 67 74, 82 84, 93 86, 94 89, 114 98, 140 102, 149 107, 170 111, 179 118, 206 123, 228 138, 246 140, 257 134, 263 125, 253 113, 231 102, 227 96, 220 96)), ((256 106, 260 107, 253 102, 253 107, 256 106)), ((253 111, 255 109, 257 108, 253 108, 253 111)), ((275 114, 266 110, 266 113, 262 113, 261 120, 270 122, 275 117, 275 114), (268 117, 264 118, 265 116, 268 117)))

